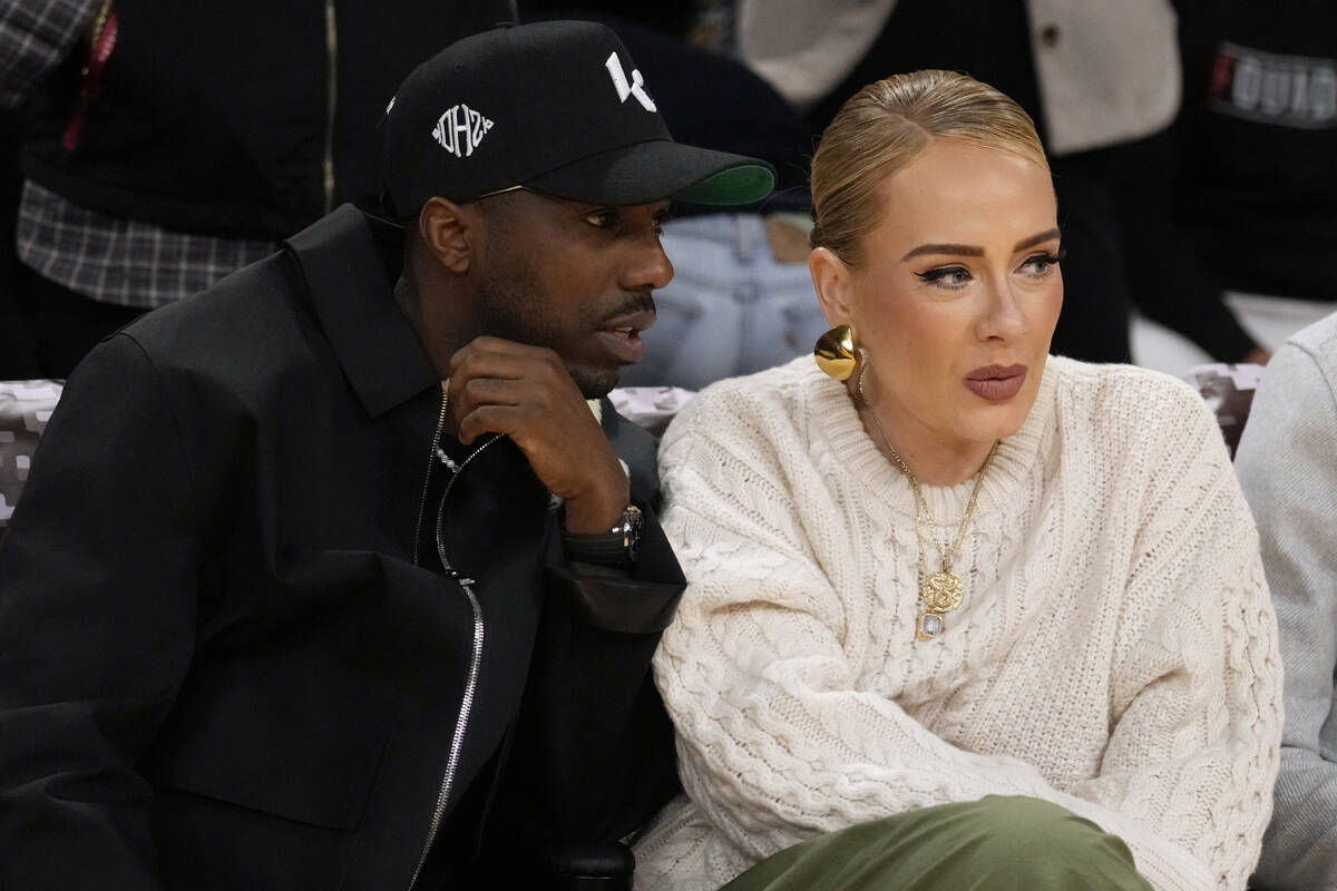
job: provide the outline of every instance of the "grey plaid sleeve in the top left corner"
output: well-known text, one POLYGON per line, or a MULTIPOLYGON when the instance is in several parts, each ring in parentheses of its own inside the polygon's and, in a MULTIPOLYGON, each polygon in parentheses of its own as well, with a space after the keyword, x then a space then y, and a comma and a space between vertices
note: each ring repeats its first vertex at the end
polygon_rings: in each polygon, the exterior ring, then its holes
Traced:
POLYGON ((11 0, 0 7, 0 108, 17 108, 79 39, 98 0, 11 0))

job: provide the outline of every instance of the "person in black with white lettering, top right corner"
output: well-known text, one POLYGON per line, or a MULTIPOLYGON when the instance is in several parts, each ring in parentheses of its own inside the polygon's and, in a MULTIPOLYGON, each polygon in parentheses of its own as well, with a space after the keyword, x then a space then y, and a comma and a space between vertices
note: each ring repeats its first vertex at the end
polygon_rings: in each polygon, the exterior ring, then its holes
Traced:
POLYGON ((1179 4, 1183 107, 1111 166, 1142 313, 1173 373, 1265 363, 1337 309, 1337 8, 1179 4), (1178 337, 1175 337, 1178 335, 1178 337))

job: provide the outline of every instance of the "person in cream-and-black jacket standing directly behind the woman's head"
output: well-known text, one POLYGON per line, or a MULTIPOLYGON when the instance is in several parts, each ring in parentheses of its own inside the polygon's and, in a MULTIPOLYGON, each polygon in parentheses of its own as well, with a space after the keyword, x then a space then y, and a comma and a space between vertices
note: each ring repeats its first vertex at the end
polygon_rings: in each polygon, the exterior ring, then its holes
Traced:
POLYGON ((1036 122, 1055 172, 1070 297, 1054 351, 1130 359, 1132 294, 1103 163, 1166 127, 1179 104, 1169 0, 739 0, 742 59, 816 138, 864 84, 898 71, 961 71, 1036 122))

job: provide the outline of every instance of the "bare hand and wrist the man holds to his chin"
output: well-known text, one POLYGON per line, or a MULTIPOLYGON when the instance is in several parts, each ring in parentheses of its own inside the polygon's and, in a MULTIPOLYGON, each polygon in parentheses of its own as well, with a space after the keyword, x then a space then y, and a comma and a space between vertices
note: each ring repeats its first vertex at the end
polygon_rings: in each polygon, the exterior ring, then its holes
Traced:
POLYGON ((456 438, 511 437, 566 502, 566 530, 608 532, 630 501, 627 474, 575 381, 552 350, 479 337, 451 357, 456 438))

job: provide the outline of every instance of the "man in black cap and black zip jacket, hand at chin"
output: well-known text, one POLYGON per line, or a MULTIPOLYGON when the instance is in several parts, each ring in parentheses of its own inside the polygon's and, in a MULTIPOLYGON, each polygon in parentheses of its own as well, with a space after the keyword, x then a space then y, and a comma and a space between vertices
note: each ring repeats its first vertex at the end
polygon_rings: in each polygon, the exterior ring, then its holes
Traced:
POLYGON ((0 549, 0 887, 492 887, 671 792, 682 576, 586 398, 664 200, 774 172, 592 24, 456 43, 384 128, 406 239, 344 206, 72 375, 0 549))

